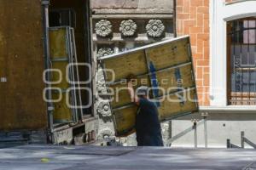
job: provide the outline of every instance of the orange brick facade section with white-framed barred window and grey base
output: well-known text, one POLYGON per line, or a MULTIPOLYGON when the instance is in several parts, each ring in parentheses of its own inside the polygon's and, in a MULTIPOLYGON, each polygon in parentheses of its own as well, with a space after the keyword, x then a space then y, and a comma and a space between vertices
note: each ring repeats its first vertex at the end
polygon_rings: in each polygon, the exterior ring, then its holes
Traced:
MULTIPOLYGON (((256 1, 177 0, 177 36, 189 35, 194 56, 201 112, 207 129, 198 127, 198 143, 241 145, 241 131, 256 141, 256 1)), ((191 125, 187 116, 172 122, 172 133, 191 125), (186 125, 185 125, 186 124, 186 125)), ((193 145, 193 133, 174 144, 193 145)))

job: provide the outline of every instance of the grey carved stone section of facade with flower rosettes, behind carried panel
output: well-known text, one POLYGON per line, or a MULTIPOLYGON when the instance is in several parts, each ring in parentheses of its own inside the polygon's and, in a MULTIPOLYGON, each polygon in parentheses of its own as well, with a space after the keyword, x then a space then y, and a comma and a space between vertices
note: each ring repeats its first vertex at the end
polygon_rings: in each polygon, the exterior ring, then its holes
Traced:
MULTIPOLYGON (((96 57, 116 54, 148 43, 174 37, 173 2, 168 0, 94 0, 92 27, 96 57)), ((101 65, 96 64, 96 113, 100 126, 98 138, 114 134, 107 90, 101 65)), ((169 123, 164 124, 166 131, 169 123)), ((167 134, 167 133, 166 133, 167 134)), ((135 145, 135 136, 121 139, 135 145)))

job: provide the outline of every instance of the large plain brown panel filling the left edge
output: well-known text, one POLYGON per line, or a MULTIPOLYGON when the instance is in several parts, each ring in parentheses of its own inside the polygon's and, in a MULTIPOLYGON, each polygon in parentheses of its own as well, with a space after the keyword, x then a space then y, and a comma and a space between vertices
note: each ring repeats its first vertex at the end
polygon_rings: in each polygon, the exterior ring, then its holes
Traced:
POLYGON ((0 130, 47 127, 40 0, 0 0, 0 130))

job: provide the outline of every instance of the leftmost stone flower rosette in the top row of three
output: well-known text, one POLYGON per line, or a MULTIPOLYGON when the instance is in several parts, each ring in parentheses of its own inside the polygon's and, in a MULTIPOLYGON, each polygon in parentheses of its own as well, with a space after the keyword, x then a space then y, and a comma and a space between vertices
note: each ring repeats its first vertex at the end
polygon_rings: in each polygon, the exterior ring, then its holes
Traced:
POLYGON ((111 22, 108 20, 100 20, 96 23, 96 35, 107 37, 112 32, 111 22))

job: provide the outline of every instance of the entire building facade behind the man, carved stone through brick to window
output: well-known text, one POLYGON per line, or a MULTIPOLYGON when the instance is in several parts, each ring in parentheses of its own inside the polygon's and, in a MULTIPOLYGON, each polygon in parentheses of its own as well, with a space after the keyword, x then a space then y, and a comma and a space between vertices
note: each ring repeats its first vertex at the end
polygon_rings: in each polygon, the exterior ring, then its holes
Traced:
MULTIPOLYGON (((211 147, 225 147, 227 139, 239 145, 241 131, 256 141, 255 5, 249 0, 96 0, 92 2, 94 52, 96 56, 119 53, 189 35, 201 112, 163 123, 165 138, 182 133, 204 116, 207 126, 197 128, 199 146, 205 146, 206 136, 211 147)), ((106 89, 100 70, 97 78, 100 129, 113 133, 108 102, 101 96, 106 89)), ((192 131, 172 145, 194 146, 194 140, 192 131)))

